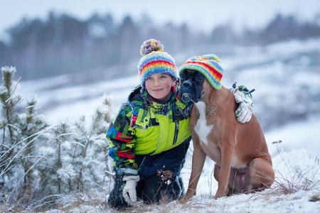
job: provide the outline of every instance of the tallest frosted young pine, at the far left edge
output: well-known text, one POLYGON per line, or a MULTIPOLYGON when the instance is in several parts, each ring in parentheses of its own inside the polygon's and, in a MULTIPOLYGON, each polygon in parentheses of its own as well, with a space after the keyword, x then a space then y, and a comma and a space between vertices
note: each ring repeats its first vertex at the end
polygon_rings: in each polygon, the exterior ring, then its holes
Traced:
POLYGON ((38 181, 37 165, 43 155, 36 148, 46 141, 48 124, 36 114, 36 100, 27 102, 26 113, 18 113, 17 104, 23 98, 15 95, 18 82, 14 82, 15 67, 2 67, 3 87, 1 87, 1 188, 13 200, 28 203, 35 193, 38 181))

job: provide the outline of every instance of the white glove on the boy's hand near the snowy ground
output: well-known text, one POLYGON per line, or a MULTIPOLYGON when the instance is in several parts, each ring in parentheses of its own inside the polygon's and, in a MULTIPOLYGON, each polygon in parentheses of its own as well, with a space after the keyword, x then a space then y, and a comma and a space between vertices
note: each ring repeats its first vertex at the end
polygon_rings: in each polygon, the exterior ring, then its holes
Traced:
POLYGON ((122 180, 126 181, 126 185, 122 190, 124 200, 129 204, 137 202, 137 182, 140 180, 138 175, 124 176, 122 180))

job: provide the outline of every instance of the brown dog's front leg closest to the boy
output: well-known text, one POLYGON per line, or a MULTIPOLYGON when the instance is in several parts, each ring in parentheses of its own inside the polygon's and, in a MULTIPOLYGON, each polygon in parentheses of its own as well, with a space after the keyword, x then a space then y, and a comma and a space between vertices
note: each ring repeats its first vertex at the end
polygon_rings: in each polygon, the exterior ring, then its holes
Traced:
POLYGON ((196 133, 192 133, 192 140, 193 140, 193 155, 192 155, 192 169, 190 180, 188 183, 188 190, 186 195, 182 199, 182 203, 187 202, 191 199, 194 195, 196 195, 196 188, 198 185, 198 181, 201 175, 201 171, 203 169, 203 165, 206 160, 206 153, 203 152, 200 139, 196 133))

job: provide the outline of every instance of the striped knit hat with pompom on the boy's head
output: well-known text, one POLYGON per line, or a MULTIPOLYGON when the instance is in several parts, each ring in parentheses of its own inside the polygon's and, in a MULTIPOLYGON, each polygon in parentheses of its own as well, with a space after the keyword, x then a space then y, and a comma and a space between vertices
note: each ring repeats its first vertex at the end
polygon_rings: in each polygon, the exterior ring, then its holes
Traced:
POLYGON ((145 87, 146 78, 156 73, 165 73, 171 75, 175 81, 178 80, 174 58, 164 52, 164 46, 159 40, 153 38, 145 40, 140 48, 140 54, 142 58, 138 64, 138 72, 142 87, 145 87))

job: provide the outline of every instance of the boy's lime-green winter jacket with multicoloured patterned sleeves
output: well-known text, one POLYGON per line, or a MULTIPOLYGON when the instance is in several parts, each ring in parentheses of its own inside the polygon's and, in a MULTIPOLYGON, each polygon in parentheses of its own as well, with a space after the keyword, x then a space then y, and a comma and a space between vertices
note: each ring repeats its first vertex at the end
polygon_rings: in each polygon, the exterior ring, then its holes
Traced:
POLYGON ((109 155, 118 175, 137 175, 135 155, 156 155, 191 139, 192 104, 183 104, 173 87, 166 102, 155 102, 136 87, 107 131, 109 155))

